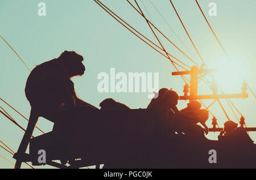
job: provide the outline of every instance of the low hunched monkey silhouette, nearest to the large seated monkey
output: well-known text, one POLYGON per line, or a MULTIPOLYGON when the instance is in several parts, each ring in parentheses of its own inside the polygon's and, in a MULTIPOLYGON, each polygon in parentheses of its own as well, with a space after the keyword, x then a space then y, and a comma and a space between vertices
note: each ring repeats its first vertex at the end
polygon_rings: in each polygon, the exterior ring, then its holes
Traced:
POLYGON ((128 110, 130 109, 125 104, 113 100, 113 98, 106 98, 100 103, 100 110, 128 110))

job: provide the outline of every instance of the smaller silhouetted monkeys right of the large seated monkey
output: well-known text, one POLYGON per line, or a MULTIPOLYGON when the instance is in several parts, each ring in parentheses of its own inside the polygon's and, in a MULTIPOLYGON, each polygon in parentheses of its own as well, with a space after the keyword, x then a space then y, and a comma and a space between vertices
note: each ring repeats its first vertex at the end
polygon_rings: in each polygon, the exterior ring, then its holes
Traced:
MULTIPOLYGON (((202 131, 202 128, 195 126, 201 123, 204 126, 205 135, 209 130, 205 122, 209 118, 209 112, 206 109, 201 109, 199 101, 190 101, 187 108, 178 110, 176 105, 179 96, 172 89, 162 88, 156 93, 155 98, 152 98, 147 109, 155 110, 158 113, 159 119, 165 119, 164 126, 167 131, 177 132, 177 134, 196 134, 195 131, 202 131), (193 128, 197 127, 197 128, 193 128)), ((121 102, 113 100, 113 98, 106 98, 100 103, 100 110, 129 110, 130 108, 121 102)), ((199 132, 200 133, 200 132, 199 132)), ((198 133, 197 133, 198 134, 198 133)), ((202 135, 202 134, 201 134, 202 135)), ((226 121, 224 129, 218 136, 219 140, 226 140, 225 142, 232 142, 233 140, 242 143, 253 143, 253 140, 247 135, 247 132, 238 127, 238 124, 233 121, 226 121)))

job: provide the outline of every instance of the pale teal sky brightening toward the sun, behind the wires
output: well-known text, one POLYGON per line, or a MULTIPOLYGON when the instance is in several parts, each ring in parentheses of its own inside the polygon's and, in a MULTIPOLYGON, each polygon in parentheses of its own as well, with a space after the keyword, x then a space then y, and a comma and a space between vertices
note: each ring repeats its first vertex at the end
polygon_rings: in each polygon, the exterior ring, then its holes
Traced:
MULTIPOLYGON (((144 36, 150 38, 156 44, 158 43, 146 21, 127 1, 102 0, 102 2, 126 20, 127 23, 142 32, 144 36)), ((141 0, 138 0, 146 17, 151 19, 152 23, 189 57, 201 65, 202 62, 180 24, 170 1, 151 0, 151 2, 143 0, 142 3, 141 0), (164 16, 168 25, 151 2, 164 16)), ((173 0, 172 2, 205 64, 209 68, 219 70, 216 72, 216 80, 223 91, 225 93, 241 93, 241 76, 255 91, 256 1, 198 1, 214 32, 216 32, 217 37, 229 54, 230 61, 218 45, 196 2, 193 0, 173 0), (208 14, 210 2, 217 5, 216 16, 209 16, 208 14)), ((125 74, 129 74, 129 72, 158 72, 159 88, 172 88, 179 95, 183 95, 184 82, 180 77, 171 75, 171 72, 175 70, 172 63, 125 29, 92 0, 72 2, 67 0, 0 0, 0 22, 0 35, 16 50, 16 53, 20 55, 30 69, 40 63, 59 57, 64 50, 75 50, 83 55, 86 67, 85 74, 72 80, 75 83, 77 95, 94 106, 99 107, 100 102, 108 97, 112 97, 132 109, 146 108, 150 102, 147 97, 148 93, 143 92, 98 92, 97 85, 100 80, 97 79, 97 76, 101 72, 110 75, 110 68, 115 68, 116 73, 124 72, 125 74), (40 2, 46 3, 46 16, 38 15, 38 3, 40 2)), ((159 33, 156 33, 156 35, 160 36, 159 33)), ((162 36, 160 36, 160 41, 163 42, 164 48, 170 54, 189 66, 193 65, 188 58, 170 42, 164 40, 162 36)), ((29 117, 30 104, 24 95, 24 87, 29 71, 2 39, 0 39, 0 75, 1 98, 9 102, 25 117, 29 117)), ((208 79, 210 80, 209 77, 208 79)), ((246 125, 256 127, 255 97, 249 91, 247 92, 249 93, 248 98, 238 98, 232 100, 232 102, 245 117, 246 125)), ((203 82, 199 83, 199 95, 211 93, 203 82)), ((204 100, 206 105, 211 102, 212 100, 204 100)), ((226 101, 221 100, 221 102, 230 119, 237 122, 226 101)), ((20 125, 27 126, 27 121, 3 102, 0 102, 0 105, 20 125)), ((186 105, 187 101, 179 101, 178 108, 182 109, 186 105)), ((223 127, 227 118, 220 105, 215 103, 209 110, 218 119, 218 125, 223 127)), ((211 118, 207 122, 208 127, 212 127, 211 118)), ((16 152, 24 132, 3 115, 0 115, 0 122, 0 140, 16 152)), ((53 124, 46 119, 39 118, 38 127, 45 132, 49 132, 52 130, 53 124)), ((40 131, 34 131, 35 136, 40 134, 40 131)), ((217 135, 217 132, 210 132, 207 138, 217 139, 217 135)), ((253 140, 256 140, 255 132, 250 132, 250 136, 253 140)), ((15 160, 5 150, 0 149, 0 155, 15 163, 15 160)), ((13 167, 13 164, 0 157, 0 168, 13 167)), ((29 167, 23 164, 22 168, 29 167)), ((35 168, 49 168, 49 166, 35 168)))

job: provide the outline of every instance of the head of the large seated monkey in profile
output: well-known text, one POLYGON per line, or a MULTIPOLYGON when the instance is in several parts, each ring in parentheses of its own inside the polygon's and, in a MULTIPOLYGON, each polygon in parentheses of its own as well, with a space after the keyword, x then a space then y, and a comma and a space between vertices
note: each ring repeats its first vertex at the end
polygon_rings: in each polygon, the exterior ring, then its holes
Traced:
POLYGON ((61 66, 67 72, 69 78, 72 76, 81 76, 84 74, 85 66, 82 64, 84 58, 82 55, 77 54, 76 52, 68 52, 65 50, 61 53, 60 57, 61 66))

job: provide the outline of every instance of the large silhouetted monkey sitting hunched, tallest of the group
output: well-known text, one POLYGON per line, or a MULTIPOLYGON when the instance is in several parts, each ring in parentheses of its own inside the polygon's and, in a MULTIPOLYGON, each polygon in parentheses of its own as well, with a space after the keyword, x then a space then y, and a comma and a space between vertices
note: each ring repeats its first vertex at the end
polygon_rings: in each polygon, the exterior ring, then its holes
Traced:
POLYGON ((58 58, 36 66, 28 76, 25 87, 31 107, 52 122, 56 121, 55 114, 61 109, 72 109, 74 106, 96 108, 77 97, 71 80, 84 74, 83 60, 82 55, 65 50, 58 58))

